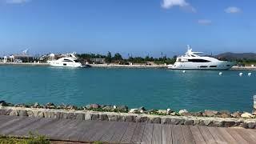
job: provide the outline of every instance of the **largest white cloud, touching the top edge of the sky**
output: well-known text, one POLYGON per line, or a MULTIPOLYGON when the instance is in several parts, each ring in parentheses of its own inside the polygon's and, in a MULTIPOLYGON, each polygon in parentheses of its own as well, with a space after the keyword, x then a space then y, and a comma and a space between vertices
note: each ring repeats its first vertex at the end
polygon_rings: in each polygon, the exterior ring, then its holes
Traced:
POLYGON ((179 6, 184 10, 195 13, 197 10, 190 5, 190 3, 186 2, 186 0, 163 0, 161 4, 162 8, 170 9, 174 6, 179 6))

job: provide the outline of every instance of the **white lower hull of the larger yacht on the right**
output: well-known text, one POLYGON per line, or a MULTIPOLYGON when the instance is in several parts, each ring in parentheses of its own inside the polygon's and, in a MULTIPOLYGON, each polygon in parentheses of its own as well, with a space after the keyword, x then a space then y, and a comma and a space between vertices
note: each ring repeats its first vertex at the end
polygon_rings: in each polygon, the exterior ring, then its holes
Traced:
POLYGON ((175 62, 174 65, 168 65, 172 70, 230 70, 235 62, 175 62))

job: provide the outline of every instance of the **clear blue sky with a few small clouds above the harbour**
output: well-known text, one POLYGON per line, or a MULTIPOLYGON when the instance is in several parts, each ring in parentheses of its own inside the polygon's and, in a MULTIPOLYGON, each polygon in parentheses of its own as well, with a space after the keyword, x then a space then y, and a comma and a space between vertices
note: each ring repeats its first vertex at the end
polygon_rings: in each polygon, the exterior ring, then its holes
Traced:
POLYGON ((256 52, 256 1, 0 0, 0 55, 256 52))

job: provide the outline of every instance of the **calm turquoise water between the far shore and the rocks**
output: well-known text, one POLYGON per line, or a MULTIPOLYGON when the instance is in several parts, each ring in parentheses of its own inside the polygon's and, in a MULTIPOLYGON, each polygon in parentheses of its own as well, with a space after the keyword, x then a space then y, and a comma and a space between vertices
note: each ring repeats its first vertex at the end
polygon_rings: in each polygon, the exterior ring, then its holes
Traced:
POLYGON ((253 107, 256 71, 63 69, 0 66, 0 100, 14 103, 89 103, 130 108, 246 110, 253 107), (238 76, 243 72, 245 75, 238 76), (251 72, 251 77, 247 73, 251 72))

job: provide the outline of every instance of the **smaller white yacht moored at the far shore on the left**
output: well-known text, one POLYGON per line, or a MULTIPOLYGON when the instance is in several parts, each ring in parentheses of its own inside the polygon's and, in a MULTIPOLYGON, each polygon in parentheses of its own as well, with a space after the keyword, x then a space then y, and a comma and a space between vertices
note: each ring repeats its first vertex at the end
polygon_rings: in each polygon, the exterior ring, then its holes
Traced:
POLYGON ((59 58, 58 60, 48 61, 50 66, 57 67, 82 67, 82 64, 78 62, 78 58, 74 53, 66 54, 65 57, 59 58))

